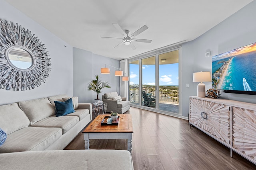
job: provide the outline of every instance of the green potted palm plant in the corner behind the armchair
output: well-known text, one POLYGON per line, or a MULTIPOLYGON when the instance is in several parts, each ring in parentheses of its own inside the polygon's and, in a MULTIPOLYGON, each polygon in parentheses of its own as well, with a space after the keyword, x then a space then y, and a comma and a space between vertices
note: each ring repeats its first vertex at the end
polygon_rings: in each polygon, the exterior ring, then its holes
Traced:
POLYGON ((102 82, 100 80, 98 75, 95 75, 95 80, 92 80, 88 85, 87 88, 88 90, 92 90, 94 93, 97 94, 97 98, 95 100, 100 100, 99 99, 99 94, 101 93, 102 88, 111 88, 108 83, 108 81, 102 82))

